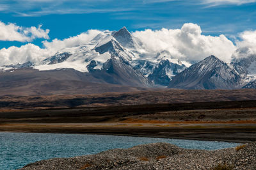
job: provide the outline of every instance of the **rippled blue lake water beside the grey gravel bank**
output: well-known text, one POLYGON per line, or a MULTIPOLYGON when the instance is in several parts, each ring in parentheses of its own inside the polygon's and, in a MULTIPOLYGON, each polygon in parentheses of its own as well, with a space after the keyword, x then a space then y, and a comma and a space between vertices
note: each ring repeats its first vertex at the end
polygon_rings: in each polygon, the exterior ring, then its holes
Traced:
POLYGON ((35 134, 0 132, 0 169, 17 169, 28 163, 55 157, 74 157, 138 144, 172 143, 182 148, 216 150, 237 143, 151 137, 85 134, 35 134))

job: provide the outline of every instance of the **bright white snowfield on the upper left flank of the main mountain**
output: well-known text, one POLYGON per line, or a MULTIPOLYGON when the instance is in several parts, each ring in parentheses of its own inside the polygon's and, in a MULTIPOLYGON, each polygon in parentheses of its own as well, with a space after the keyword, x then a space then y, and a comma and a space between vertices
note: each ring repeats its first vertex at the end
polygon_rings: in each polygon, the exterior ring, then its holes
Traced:
POLYGON ((131 60, 134 55, 124 49, 112 35, 113 31, 104 31, 82 46, 62 49, 51 58, 36 63, 34 68, 38 70, 74 68, 80 72, 88 72, 87 66, 91 61, 95 61, 95 69, 101 69, 103 64, 110 59, 111 52, 115 50, 118 50, 122 57, 131 60))

